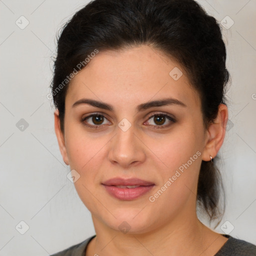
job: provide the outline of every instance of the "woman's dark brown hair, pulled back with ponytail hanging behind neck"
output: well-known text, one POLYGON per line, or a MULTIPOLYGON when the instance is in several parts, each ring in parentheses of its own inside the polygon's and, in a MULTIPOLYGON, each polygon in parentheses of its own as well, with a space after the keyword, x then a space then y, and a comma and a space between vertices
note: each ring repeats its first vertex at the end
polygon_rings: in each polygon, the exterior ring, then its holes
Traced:
MULTIPOLYGON (((69 84, 66 77, 77 64, 95 49, 117 50, 142 44, 161 50, 181 64, 200 96, 203 123, 208 128, 217 117, 219 104, 226 104, 229 80, 225 44, 216 19, 194 0, 93 0, 71 17, 57 40, 51 91, 62 132, 69 84)), ((197 187, 197 203, 210 220, 221 215, 218 205, 223 186, 216 158, 214 162, 202 160, 197 187)))

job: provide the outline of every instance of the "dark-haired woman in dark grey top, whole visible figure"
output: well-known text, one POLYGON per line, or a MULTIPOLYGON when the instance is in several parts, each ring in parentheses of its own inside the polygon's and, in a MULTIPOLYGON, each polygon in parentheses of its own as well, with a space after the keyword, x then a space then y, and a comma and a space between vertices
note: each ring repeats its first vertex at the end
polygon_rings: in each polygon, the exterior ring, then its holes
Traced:
POLYGON ((58 39, 55 132, 95 235, 57 255, 256 255, 218 210, 225 45, 193 0, 94 0, 58 39))

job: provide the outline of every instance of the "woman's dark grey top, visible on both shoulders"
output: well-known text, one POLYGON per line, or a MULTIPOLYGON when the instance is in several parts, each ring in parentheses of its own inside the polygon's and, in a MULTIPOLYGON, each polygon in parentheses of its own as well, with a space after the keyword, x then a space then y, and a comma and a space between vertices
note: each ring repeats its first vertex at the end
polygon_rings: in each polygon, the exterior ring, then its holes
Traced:
MULTIPOLYGON (((256 256, 256 246, 250 242, 236 239, 230 235, 222 234, 228 239, 214 256, 256 256)), ((87 244, 96 235, 72 245, 50 256, 84 256, 87 244)))

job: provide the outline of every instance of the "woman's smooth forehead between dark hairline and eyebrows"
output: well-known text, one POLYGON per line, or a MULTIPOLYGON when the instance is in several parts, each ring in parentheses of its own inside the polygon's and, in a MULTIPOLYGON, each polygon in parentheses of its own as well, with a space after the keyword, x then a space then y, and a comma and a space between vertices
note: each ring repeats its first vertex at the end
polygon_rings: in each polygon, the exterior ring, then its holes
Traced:
POLYGON ((168 96, 190 107, 199 106, 199 96, 182 66, 160 50, 143 45, 99 51, 71 79, 66 104, 85 97, 128 107, 168 96))

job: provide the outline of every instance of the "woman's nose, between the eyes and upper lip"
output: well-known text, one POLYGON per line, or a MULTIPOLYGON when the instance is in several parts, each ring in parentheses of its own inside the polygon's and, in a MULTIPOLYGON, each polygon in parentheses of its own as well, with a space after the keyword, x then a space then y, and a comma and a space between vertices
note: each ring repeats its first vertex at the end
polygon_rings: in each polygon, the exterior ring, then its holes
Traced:
POLYGON ((145 144, 131 125, 127 130, 116 126, 116 135, 109 144, 108 159, 123 168, 136 166, 145 161, 145 144))

